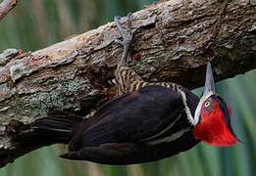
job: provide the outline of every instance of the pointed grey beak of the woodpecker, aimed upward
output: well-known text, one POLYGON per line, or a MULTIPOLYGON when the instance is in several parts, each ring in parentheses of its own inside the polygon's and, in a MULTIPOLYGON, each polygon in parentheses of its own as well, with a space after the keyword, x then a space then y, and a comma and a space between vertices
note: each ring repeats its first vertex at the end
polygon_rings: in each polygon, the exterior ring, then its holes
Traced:
POLYGON ((213 70, 212 70, 211 64, 207 63, 204 93, 202 97, 208 97, 209 95, 212 95, 212 94, 216 94, 213 70))

